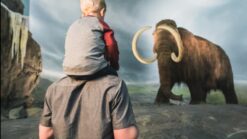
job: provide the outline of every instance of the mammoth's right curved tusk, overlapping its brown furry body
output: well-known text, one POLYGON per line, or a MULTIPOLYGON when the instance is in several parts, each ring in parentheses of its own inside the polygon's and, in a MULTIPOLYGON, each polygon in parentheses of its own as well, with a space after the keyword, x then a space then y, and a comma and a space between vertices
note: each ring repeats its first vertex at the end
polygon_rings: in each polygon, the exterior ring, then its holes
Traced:
POLYGON ((177 46, 178 46, 178 56, 176 56, 175 53, 173 52, 171 54, 171 58, 174 62, 177 62, 177 63, 180 62, 183 58, 184 47, 183 47, 181 37, 178 33, 178 30, 173 29, 167 25, 160 25, 160 26, 158 26, 158 29, 163 29, 163 30, 169 31, 172 34, 172 36, 175 38, 175 41, 176 41, 177 46))

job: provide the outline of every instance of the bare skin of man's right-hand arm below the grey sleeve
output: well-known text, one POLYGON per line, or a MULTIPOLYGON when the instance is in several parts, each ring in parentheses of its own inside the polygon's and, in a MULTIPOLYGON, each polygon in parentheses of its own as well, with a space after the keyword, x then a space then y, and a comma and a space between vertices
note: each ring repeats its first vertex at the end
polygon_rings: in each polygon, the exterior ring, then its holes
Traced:
POLYGON ((114 139, 137 139, 138 129, 136 126, 130 126, 123 129, 114 129, 114 139))

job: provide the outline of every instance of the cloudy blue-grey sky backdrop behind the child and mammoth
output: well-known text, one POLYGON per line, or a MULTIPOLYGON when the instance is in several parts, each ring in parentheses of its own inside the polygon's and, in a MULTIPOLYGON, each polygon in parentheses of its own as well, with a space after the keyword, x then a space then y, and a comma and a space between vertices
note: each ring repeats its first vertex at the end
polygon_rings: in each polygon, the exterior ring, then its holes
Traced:
MULTIPOLYGON (((232 63, 235 81, 247 80, 247 4, 244 0, 106 0, 105 21, 115 31, 120 49, 120 76, 128 83, 158 82, 157 63, 143 65, 131 52, 133 34, 142 26, 173 19, 196 35, 220 45, 232 63)), ((30 29, 41 45, 42 76, 63 76, 64 41, 80 18, 79 0, 35 0, 30 3, 30 29)), ((153 29, 152 29, 153 30, 153 29)), ((140 39, 143 55, 152 54, 152 31, 140 39)))

